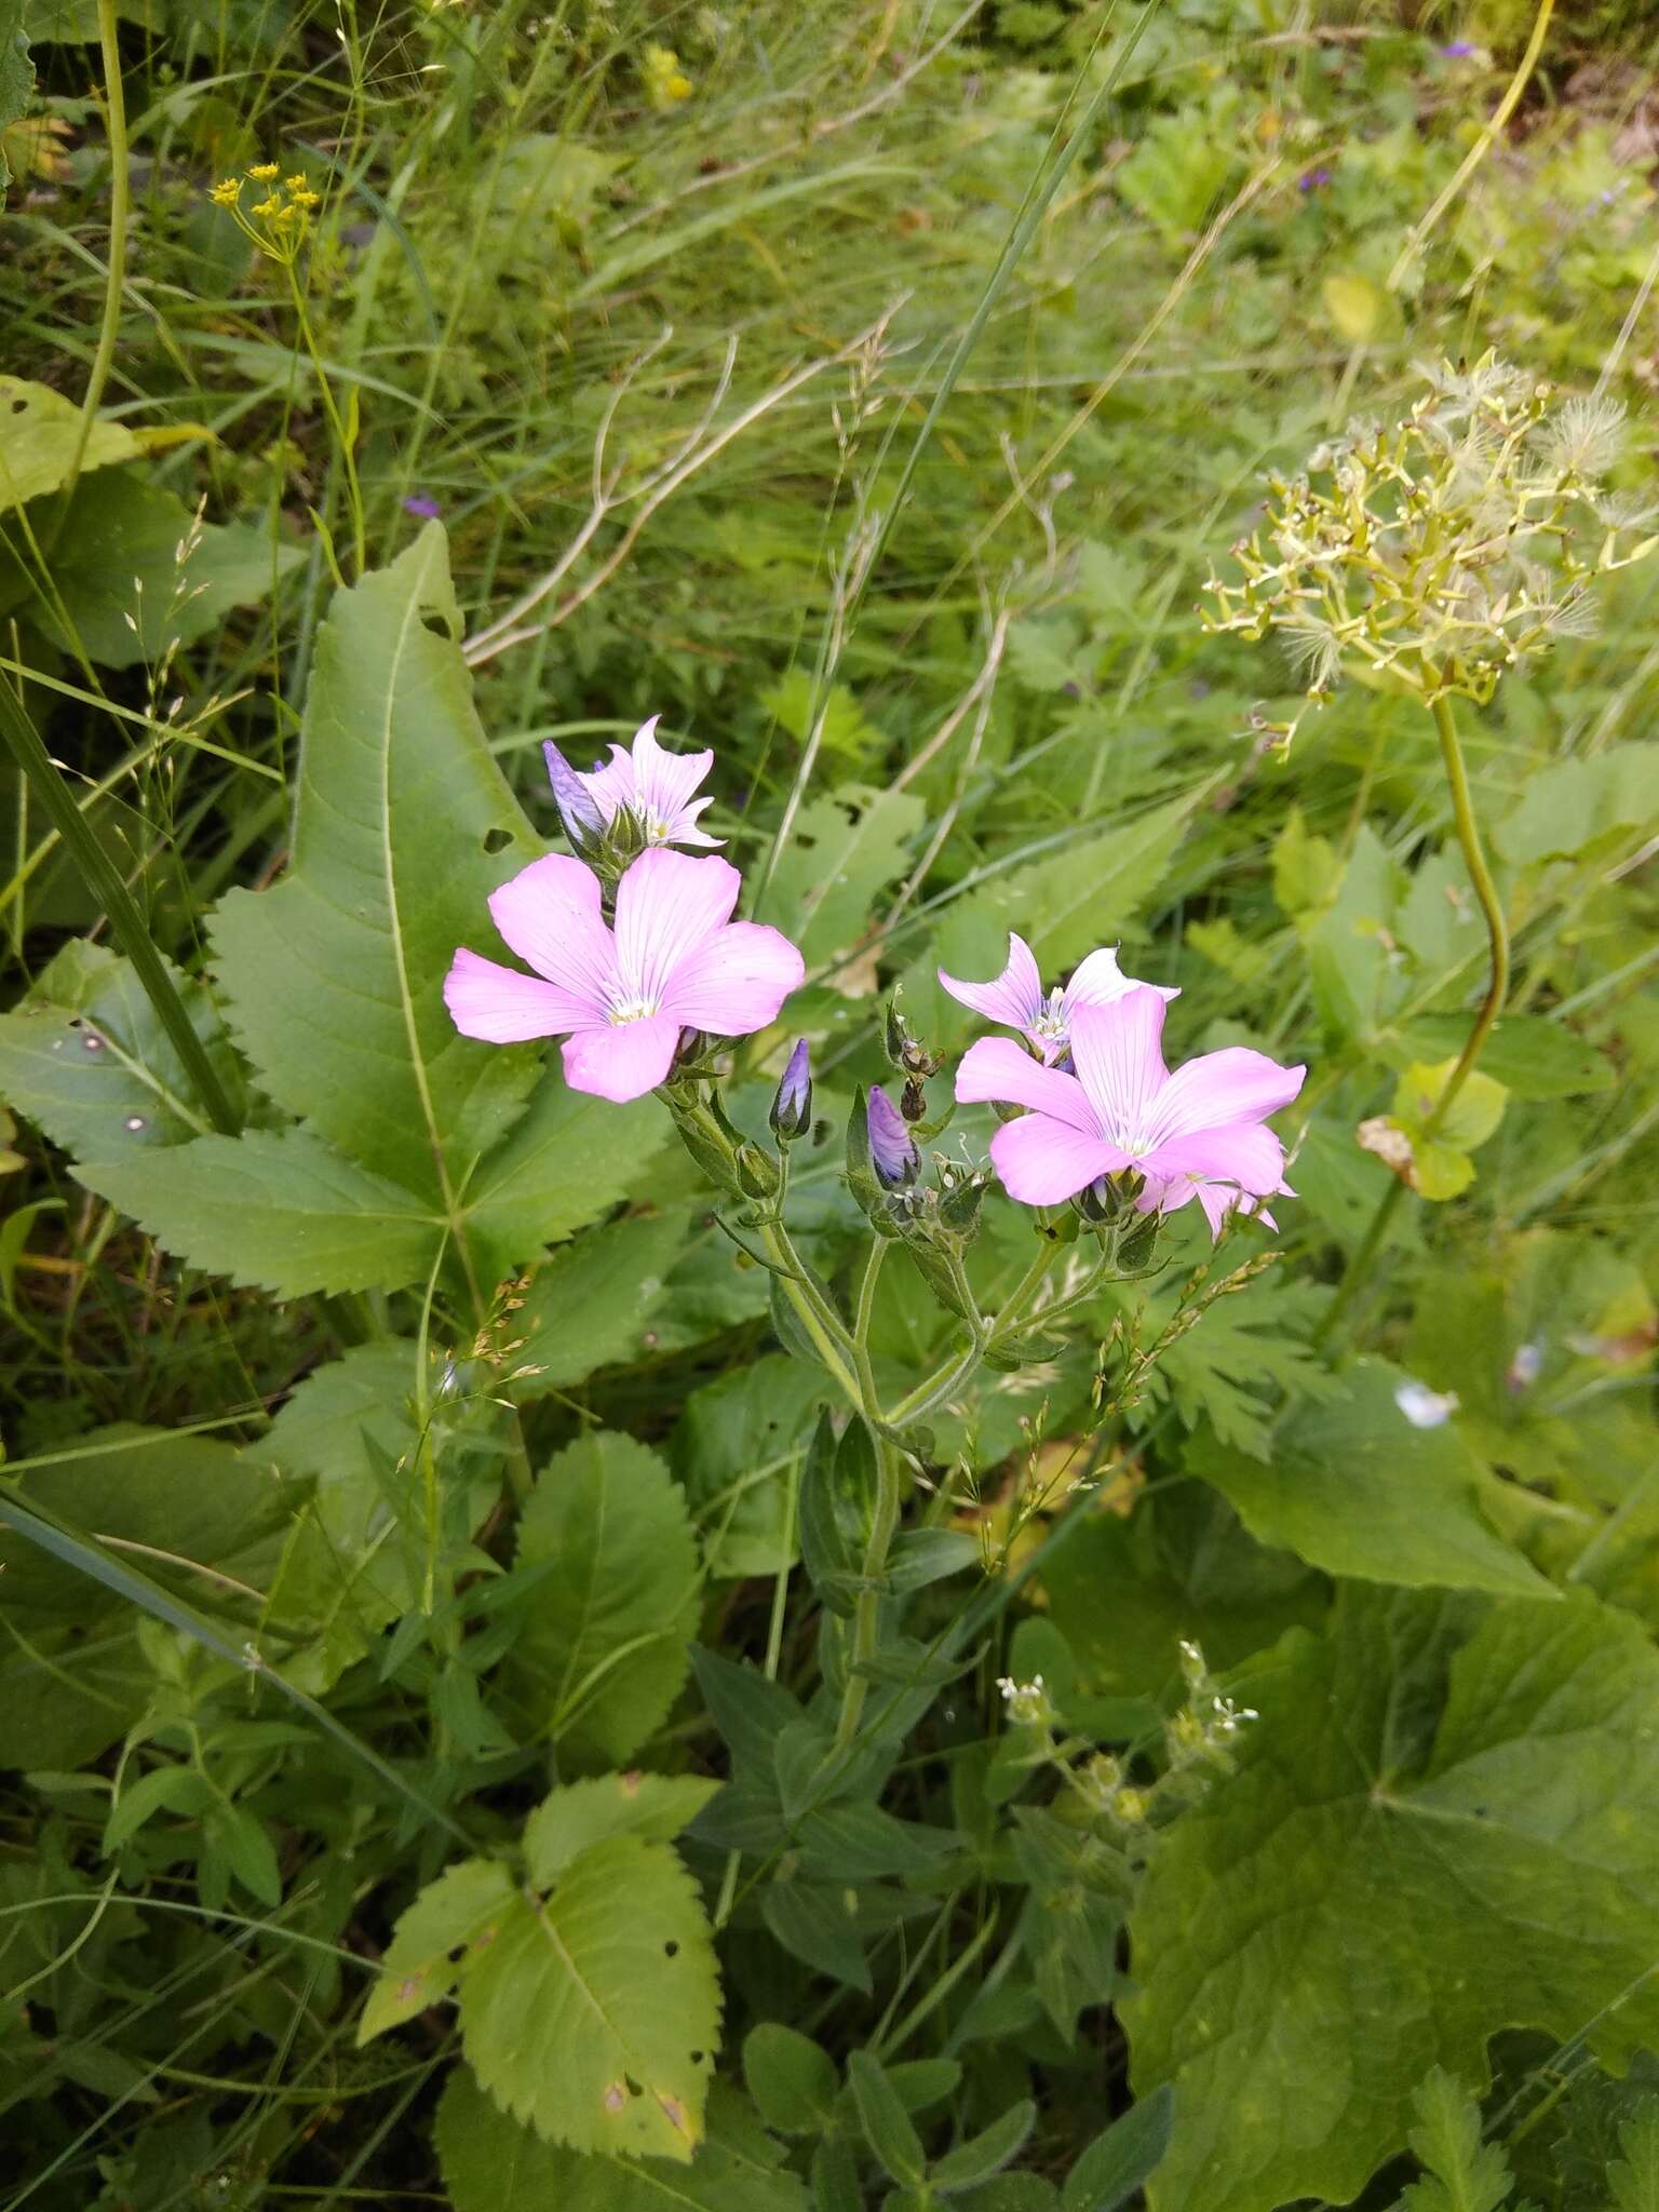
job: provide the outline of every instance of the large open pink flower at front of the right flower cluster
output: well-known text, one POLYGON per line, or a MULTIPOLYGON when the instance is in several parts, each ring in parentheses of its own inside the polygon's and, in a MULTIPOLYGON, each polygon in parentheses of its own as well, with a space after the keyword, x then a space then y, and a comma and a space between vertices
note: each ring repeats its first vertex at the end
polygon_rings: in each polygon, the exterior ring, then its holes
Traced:
POLYGON ((1141 1212, 1197 1199, 1210 1232, 1237 1206, 1285 1190, 1285 1148, 1263 1119, 1287 1106, 1307 1068, 1228 1046, 1164 1066, 1164 998, 1144 984, 1110 1006, 1071 1013, 1075 1075, 1040 1066, 1006 1037, 980 1037, 956 1071, 958 1099, 1029 1106, 991 1139, 991 1164, 1026 1206, 1057 1206, 1102 1175, 1146 1177, 1141 1212))

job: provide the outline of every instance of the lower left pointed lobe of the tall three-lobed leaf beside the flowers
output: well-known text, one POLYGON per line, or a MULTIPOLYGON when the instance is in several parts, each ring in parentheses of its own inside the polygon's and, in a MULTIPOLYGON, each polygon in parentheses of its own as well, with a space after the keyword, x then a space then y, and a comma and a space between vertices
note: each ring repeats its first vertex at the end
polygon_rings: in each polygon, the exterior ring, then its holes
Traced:
POLYGON ((88 1159, 80 1179, 188 1265, 279 1298, 403 1290, 445 1245, 427 1201, 303 1128, 88 1159))

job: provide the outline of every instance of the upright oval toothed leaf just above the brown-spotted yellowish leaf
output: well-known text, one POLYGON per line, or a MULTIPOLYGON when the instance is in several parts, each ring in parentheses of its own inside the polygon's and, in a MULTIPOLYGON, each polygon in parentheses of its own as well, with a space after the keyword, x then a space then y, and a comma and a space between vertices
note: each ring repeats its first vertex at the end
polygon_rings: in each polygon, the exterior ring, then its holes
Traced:
POLYGON ((690 1668, 701 1575, 679 1486, 630 1436, 591 1431, 544 1467, 518 1564, 546 1568, 513 1648, 533 1728, 566 1759, 626 1759, 690 1668))

